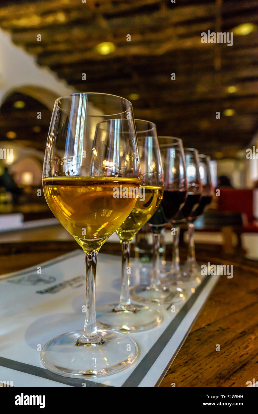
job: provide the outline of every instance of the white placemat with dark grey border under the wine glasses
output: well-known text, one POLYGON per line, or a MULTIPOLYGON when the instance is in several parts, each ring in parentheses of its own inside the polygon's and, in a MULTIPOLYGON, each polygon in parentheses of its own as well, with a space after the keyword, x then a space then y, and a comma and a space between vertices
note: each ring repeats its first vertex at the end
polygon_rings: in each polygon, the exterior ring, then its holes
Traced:
MULTIPOLYGON (((131 260, 132 284, 139 284, 149 264, 131 260)), ((121 258, 99 253, 96 304, 118 301, 121 258)), ((159 306, 164 320, 152 330, 130 334, 139 356, 130 367, 94 379, 69 379, 47 371, 40 347, 64 332, 82 329, 85 313, 85 260, 81 250, 27 270, 0 277, 0 381, 14 387, 154 387, 186 339, 219 277, 205 277, 188 292, 176 313, 159 306), (41 273, 40 273, 41 272, 41 273)))

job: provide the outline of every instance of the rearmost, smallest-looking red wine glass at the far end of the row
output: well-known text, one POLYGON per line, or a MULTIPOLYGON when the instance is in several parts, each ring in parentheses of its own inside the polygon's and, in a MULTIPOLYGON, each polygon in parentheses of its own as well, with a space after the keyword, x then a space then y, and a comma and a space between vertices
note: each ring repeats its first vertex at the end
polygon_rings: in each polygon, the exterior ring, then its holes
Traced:
POLYGON ((205 154, 198 154, 199 159, 199 176, 202 183, 201 195, 198 203, 193 207, 188 215, 188 257, 184 274, 199 275, 198 263, 195 260, 195 243, 194 243, 194 222, 205 212, 207 206, 212 202, 214 188, 210 174, 210 157, 205 154))

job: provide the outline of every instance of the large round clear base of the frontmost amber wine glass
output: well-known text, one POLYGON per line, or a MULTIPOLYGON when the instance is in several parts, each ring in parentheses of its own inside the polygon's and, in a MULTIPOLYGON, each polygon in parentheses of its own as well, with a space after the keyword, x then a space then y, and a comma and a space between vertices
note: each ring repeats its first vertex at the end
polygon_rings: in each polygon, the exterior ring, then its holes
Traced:
POLYGON ((41 362, 49 371, 70 378, 95 378, 128 368, 137 358, 135 341, 120 332, 98 330, 102 341, 78 346, 78 330, 51 339, 42 349, 41 362))

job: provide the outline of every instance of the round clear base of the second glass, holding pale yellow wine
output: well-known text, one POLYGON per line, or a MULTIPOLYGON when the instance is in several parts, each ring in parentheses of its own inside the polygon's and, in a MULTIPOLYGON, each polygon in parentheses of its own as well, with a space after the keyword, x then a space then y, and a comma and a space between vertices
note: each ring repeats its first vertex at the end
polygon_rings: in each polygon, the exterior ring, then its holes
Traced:
POLYGON ((96 308, 97 324, 104 329, 141 332, 158 326, 162 321, 159 310, 131 303, 119 308, 118 303, 106 303, 96 308))

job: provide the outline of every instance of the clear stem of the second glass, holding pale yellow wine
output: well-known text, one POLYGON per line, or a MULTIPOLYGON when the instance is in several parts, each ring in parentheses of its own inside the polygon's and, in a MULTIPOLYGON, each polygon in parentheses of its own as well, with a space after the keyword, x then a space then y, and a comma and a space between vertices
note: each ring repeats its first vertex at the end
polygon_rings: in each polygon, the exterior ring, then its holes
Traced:
POLYGON ((122 243, 122 286, 119 307, 128 306, 131 303, 129 296, 129 286, 130 286, 130 247, 131 241, 123 241, 122 243))

